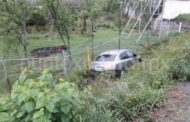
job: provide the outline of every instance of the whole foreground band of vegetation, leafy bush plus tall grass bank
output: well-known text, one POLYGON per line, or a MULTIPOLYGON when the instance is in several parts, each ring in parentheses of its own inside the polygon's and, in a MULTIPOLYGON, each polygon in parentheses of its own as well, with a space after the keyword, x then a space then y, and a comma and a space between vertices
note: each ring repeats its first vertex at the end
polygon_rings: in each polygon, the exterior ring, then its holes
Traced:
POLYGON ((152 121, 151 113, 166 100, 168 89, 175 81, 189 78, 188 45, 188 34, 176 34, 169 41, 151 45, 141 54, 143 62, 126 76, 100 77, 84 91, 73 81, 55 81, 47 71, 34 79, 27 78, 24 71, 11 94, 1 96, 0 120, 152 121))

